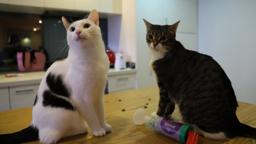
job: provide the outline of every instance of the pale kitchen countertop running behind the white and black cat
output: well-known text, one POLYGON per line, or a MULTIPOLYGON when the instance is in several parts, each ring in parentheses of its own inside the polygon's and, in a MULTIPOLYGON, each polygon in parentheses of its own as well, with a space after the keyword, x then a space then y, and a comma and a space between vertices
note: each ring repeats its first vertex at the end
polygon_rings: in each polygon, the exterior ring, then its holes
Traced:
MULTIPOLYGON (((108 76, 116 76, 116 75, 124 75, 124 74, 132 74, 136 73, 136 69, 109 69, 108 76)), ((5 77, 4 74, 0 75, 0 88, 8 87, 8 86, 21 86, 28 84, 40 83, 45 75, 45 71, 39 72, 20 72, 23 73, 24 76, 17 77, 5 77)))

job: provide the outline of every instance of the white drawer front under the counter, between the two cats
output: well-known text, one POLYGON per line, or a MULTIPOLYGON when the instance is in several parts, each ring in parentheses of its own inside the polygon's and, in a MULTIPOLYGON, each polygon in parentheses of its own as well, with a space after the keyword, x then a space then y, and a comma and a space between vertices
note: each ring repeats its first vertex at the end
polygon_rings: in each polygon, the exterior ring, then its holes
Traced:
POLYGON ((108 93, 135 89, 135 74, 108 77, 108 93))

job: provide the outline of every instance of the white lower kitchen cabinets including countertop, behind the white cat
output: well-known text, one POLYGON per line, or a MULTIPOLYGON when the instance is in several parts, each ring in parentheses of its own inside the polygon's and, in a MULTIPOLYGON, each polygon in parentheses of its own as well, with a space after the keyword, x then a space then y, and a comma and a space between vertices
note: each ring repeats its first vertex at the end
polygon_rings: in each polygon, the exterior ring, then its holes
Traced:
MULTIPOLYGON (((135 89, 136 69, 109 69, 108 93, 135 89)), ((24 76, 6 78, 0 75, 0 112, 32 107, 45 75, 44 71, 27 72, 24 76)))

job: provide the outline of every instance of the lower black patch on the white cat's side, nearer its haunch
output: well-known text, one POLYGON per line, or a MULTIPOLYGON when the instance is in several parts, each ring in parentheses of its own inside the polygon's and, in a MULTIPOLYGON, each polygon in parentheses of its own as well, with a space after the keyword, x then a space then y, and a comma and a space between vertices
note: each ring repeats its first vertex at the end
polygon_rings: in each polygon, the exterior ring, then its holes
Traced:
POLYGON ((75 107, 66 99, 56 96, 50 90, 45 90, 43 93, 43 106, 61 107, 67 110, 75 111, 75 107))

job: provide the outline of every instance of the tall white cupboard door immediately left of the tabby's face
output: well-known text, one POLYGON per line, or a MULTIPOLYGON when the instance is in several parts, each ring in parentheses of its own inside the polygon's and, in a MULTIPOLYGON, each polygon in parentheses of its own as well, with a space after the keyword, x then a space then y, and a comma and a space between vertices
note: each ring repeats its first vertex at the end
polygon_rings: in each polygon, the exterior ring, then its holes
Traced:
POLYGON ((143 18, 152 24, 162 25, 162 1, 136 0, 137 37, 137 86, 138 88, 157 85, 155 74, 149 62, 151 54, 146 42, 146 26, 143 18))

